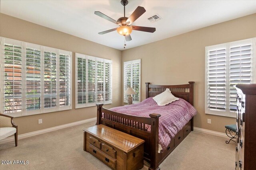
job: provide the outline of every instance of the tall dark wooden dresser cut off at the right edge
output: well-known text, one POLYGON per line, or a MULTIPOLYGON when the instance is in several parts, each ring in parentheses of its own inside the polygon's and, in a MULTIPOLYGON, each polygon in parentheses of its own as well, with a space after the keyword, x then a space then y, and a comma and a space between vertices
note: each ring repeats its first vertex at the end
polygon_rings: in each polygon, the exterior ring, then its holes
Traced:
POLYGON ((237 84, 236 170, 256 169, 256 84, 237 84))

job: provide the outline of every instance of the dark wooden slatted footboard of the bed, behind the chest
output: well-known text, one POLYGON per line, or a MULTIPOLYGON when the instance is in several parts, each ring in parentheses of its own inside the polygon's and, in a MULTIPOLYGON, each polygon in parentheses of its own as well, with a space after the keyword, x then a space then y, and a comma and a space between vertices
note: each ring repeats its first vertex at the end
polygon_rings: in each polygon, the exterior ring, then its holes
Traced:
POLYGON ((102 107, 103 104, 97 104, 97 125, 106 125, 138 137, 145 141, 144 158, 150 160, 150 168, 158 168, 158 128, 160 114, 150 114, 150 117, 138 117, 117 113, 102 107), (103 117, 102 117, 103 113, 103 117), (151 127, 151 131, 146 130, 146 125, 151 127))

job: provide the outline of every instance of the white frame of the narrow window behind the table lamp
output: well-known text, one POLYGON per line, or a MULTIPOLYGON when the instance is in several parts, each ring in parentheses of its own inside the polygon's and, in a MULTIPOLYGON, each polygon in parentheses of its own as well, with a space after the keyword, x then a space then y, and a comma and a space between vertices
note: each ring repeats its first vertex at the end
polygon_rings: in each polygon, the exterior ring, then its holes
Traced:
MULTIPOLYGON (((125 92, 126 92, 126 87, 125 87, 125 76, 126 76, 126 73, 125 73, 125 65, 126 64, 135 64, 135 63, 139 63, 139 101, 132 101, 133 104, 137 104, 137 103, 140 103, 141 102, 141 59, 137 59, 137 60, 132 60, 132 61, 124 61, 123 63, 123 102, 124 103, 128 103, 128 101, 125 99, 125 92)), ((132 78, 131 78, 131 84, 132 84, 132 78)))

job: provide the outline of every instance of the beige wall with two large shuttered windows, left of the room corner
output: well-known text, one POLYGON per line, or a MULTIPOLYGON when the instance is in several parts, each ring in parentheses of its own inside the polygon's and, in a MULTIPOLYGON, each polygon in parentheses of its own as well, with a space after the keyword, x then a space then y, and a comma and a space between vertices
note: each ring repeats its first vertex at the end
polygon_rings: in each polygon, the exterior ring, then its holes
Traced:
MULTIPOLYGON (((44 45, 66 51, 72 51, 72 87, 75 87, 75 53, 82 53, 104 59, 113 63, 113 104, 107 108, 120 106, 121 96, 121 51, 81 39, 54 29, 43 27, 28 21, 0 14, 0 36, 17 39, 38 45, 44 45)), ((2 107, 2 106, 1 106, 2 107)), ((44 113, 14 118, 19 127, 19 135, 50 127, 64 125, 96 117, 96 107, 75 108, 75 88, 72 88, 72 110, 44 113), (43 123, 38 124, 38 119, 43 123)), ((82 133, 82 132, 81 132, 82 133)))

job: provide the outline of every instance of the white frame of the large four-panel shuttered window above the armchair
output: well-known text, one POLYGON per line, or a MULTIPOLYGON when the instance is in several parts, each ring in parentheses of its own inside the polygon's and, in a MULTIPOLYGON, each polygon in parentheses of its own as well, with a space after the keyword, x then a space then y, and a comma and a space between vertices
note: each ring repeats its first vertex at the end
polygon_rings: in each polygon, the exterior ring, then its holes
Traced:
POLYGON ((0 37, 1 47, 0 47, 0 112, 5 115, 10 115, 13 117, 21 117, 21 116, 27 116, 27 115, 36 115, 36 114, 42 114, 42 113, 50 113, 50 112, 56 112, 56 111, 63 111, 63 110, 69 110, 72 109, 72 52, 65 51, 61 49, 55 49, 52 47, 46 47, 42 45, 37 45, 33 43, 27 43, 24 41, 19 41, 15 39, 9 39, 5 37, 0 37), (20 45, 22 49, 22 68, 21 68, 21 78, 22 78, 22 109, 21 111, 12 112, 12 113, 5 113, 4 110, 4 101, 5 101, 5 95, 4 95, 4 44, 12 44, 12 45, 20 45), (27 48, 34 48, 40 50, 40 109, 33 109, 33 110, 27 110, 26 108, 26 50, 27 48), (59 73, 56 74, 56 107, 52 108, 45 108, 44 107, 44 52, 45 51, 51 51, 56 52, 56 72, 58 72, 59 64, 60 64, 60 54, 69 55, 70 56, 70 104, 68 106, 60 106, 59 100, 60 100, 60 92, 59 92, 59 84, 60 80, 59 73))

